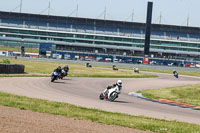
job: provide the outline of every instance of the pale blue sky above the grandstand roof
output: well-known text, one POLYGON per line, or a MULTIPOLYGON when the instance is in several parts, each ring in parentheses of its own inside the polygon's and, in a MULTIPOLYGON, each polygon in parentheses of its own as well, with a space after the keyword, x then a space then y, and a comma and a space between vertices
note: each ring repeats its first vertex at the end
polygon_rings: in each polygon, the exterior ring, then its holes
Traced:
MULTIPOLYGON (((1 0, 1 11, 19 12, 21 0, 1 0)), ((146 22, 148 1, 153 2, 152 23, 200 27, 200 0, 22 0, 22 12, 107 20, 146 22), (161 17, 160 17, 161 16, 161 17), (161 19, 160 19, 161 18, 161 19)))

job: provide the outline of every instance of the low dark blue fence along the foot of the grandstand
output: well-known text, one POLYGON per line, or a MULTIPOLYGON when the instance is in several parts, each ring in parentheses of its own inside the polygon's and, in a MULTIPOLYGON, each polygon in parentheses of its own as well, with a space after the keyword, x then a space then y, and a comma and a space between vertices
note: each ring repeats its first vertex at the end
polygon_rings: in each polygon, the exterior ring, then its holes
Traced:
MULTIPOLYGON (((65 56, 68 55, 69 60, 95 60, 99 62, 115 62, 114 59, 117 60, 119 63, 131 63, 131 64, 142 64, 143 58, 142 57, 127 57, 127 56, 113 56, 113 55, 101 55, 101 54, 92 54, 92 53, 73 53, 73 52, 58 52, 58 51, 52 51, 53 54, 59 54, 61 55, 62 59, 65 59, 65 56), (78 57, 78 58, 77 58, 78 57), (90 58, 86 58, 90 57, 90 58), (107 60, 107 59, 110 60, 107 60)), ((171 65, 171 66, 184 66, 185 64, 198 64, 198 62, 195 61, 185 61, 185 60, 172 60, 172 59, 156 59, 156 58, 150 58, 149 59, 150 64, 152 65, 171 65)))

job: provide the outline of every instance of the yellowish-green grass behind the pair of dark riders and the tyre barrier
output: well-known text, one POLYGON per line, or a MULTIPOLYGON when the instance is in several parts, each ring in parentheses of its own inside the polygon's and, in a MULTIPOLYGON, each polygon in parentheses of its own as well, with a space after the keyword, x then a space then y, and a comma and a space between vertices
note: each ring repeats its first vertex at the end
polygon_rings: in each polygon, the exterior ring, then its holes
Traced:
MULTIPOLYGON (((0 61, 3 59, 0 59, 0 61)), ((42 62, 33 60, 10 60, 11 64, 23 64, 25 65, 25 72, 32 73, 33 75, 43 76, 42 74, 50 74, 58 66, 64 67, 65 63, 59 62, 42 62), (34 74, 37 73, 37 74, 34 74), (39 73, 39 74, 38 74, 39 73), (41 74, 41 75, 40 75, 41 74)), ((105 78, 153 78, 157 77, 150 74, 137 74, 133 72, 113 71, 112 69, 98 69, 87 68, 85 65, 80 64, 68 64, 70 77, 105 77, 105 78)), ((9 75, 8 75, 9 76, 9 75)), ((15 76, 15 75, 10 75, 15 76)))

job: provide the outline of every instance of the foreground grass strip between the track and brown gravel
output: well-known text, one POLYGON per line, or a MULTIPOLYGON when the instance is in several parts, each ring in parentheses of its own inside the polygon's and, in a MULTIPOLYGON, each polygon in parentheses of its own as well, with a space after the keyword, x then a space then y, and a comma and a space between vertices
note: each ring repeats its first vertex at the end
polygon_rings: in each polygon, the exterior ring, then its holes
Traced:
POLYGON ((78 107, 67 103, 32 99, 3 92, 0 92, 0 105, 54 115, 76 117, 108 125, 112 124, 140 130, 150 130, 153 132, 188 133, 200 131, 200 125, 196 124, 167 121, 144 116, 131 116, 122 113, 111 113, 97 109, 78 107))

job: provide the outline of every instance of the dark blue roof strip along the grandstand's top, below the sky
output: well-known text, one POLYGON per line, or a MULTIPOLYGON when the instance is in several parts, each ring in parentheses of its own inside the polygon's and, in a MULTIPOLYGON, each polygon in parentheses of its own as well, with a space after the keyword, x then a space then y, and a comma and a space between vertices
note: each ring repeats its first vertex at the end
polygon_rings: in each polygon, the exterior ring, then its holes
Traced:
MULTIPOLYGON (((105 28, 145 29, 145 23, 0 11, 0 19, 64 23, 105 28)), ((200 34, 200 27, 152 24, 152 30, 200 34)))

